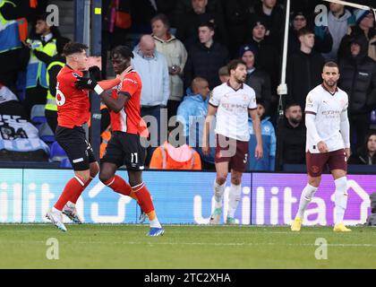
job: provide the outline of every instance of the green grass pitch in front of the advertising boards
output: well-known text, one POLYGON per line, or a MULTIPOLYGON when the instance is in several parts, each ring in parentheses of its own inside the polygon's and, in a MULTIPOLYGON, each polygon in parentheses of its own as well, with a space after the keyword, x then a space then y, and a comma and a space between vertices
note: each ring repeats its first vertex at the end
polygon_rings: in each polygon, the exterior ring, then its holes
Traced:
MULTIPOLYGON (((376 268, 376 229, 330 227, 167 225, 162 237, 147 225, 0 225, 0 268, 376 268), (47 239, 58 241, 57 260, 47 259, 47 239), (316 259, 316 239, 328 242, 316 259)), ((321 247, 322 248, 322 247, 321 247)))

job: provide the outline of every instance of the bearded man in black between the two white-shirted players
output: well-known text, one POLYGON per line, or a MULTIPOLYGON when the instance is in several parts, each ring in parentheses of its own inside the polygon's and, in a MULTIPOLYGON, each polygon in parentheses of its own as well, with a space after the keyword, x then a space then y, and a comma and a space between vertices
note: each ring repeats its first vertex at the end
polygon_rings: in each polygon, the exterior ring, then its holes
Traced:
POLYGON ((278 167, 283 164, 303 164, 305 162, 305 134, 302 108, 297 103, 290 103, 285 109, 285 119, 278 133, 279 160, 278 167))

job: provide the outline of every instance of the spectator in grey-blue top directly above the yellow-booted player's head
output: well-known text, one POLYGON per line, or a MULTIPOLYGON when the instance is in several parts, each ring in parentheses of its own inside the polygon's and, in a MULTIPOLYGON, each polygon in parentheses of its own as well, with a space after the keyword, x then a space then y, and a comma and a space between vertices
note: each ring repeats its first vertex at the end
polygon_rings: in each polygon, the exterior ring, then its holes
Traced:
POLYGON ((338 48, 350 26, 355 23, 354 15, 345 9, 344 5, 330 3, 328 13, 328 28, 333 39, 333 46, 329 53, 322 54, 326 61, 338 60, 338 48))

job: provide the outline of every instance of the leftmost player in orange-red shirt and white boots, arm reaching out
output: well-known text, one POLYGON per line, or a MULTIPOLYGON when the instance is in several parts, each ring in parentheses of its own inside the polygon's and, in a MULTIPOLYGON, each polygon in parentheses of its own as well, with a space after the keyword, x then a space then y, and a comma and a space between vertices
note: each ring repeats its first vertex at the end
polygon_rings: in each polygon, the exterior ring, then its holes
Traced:
MULTIPOLYGON (((74 84, 77 78, 83 75, 82 71, 87 65, 87 48, 81 43, 66 44, 64 46, 66 65, 56 77, 56 140, 71 161, 74 177, 66 183, 62 195, 54 207, 47 212, 46 217, 63 231, 66 231, 63 213, 73 222, 81 223, 75 204, 82 191, 99 171, 98 162, 82 127, 90 118, 89 94, 88 91, 77 89, 74 84)), ((101 85, 105 88, 113 87, 121 82, 120 78, 121 76, 115 80, 103 81, 101 85)))

